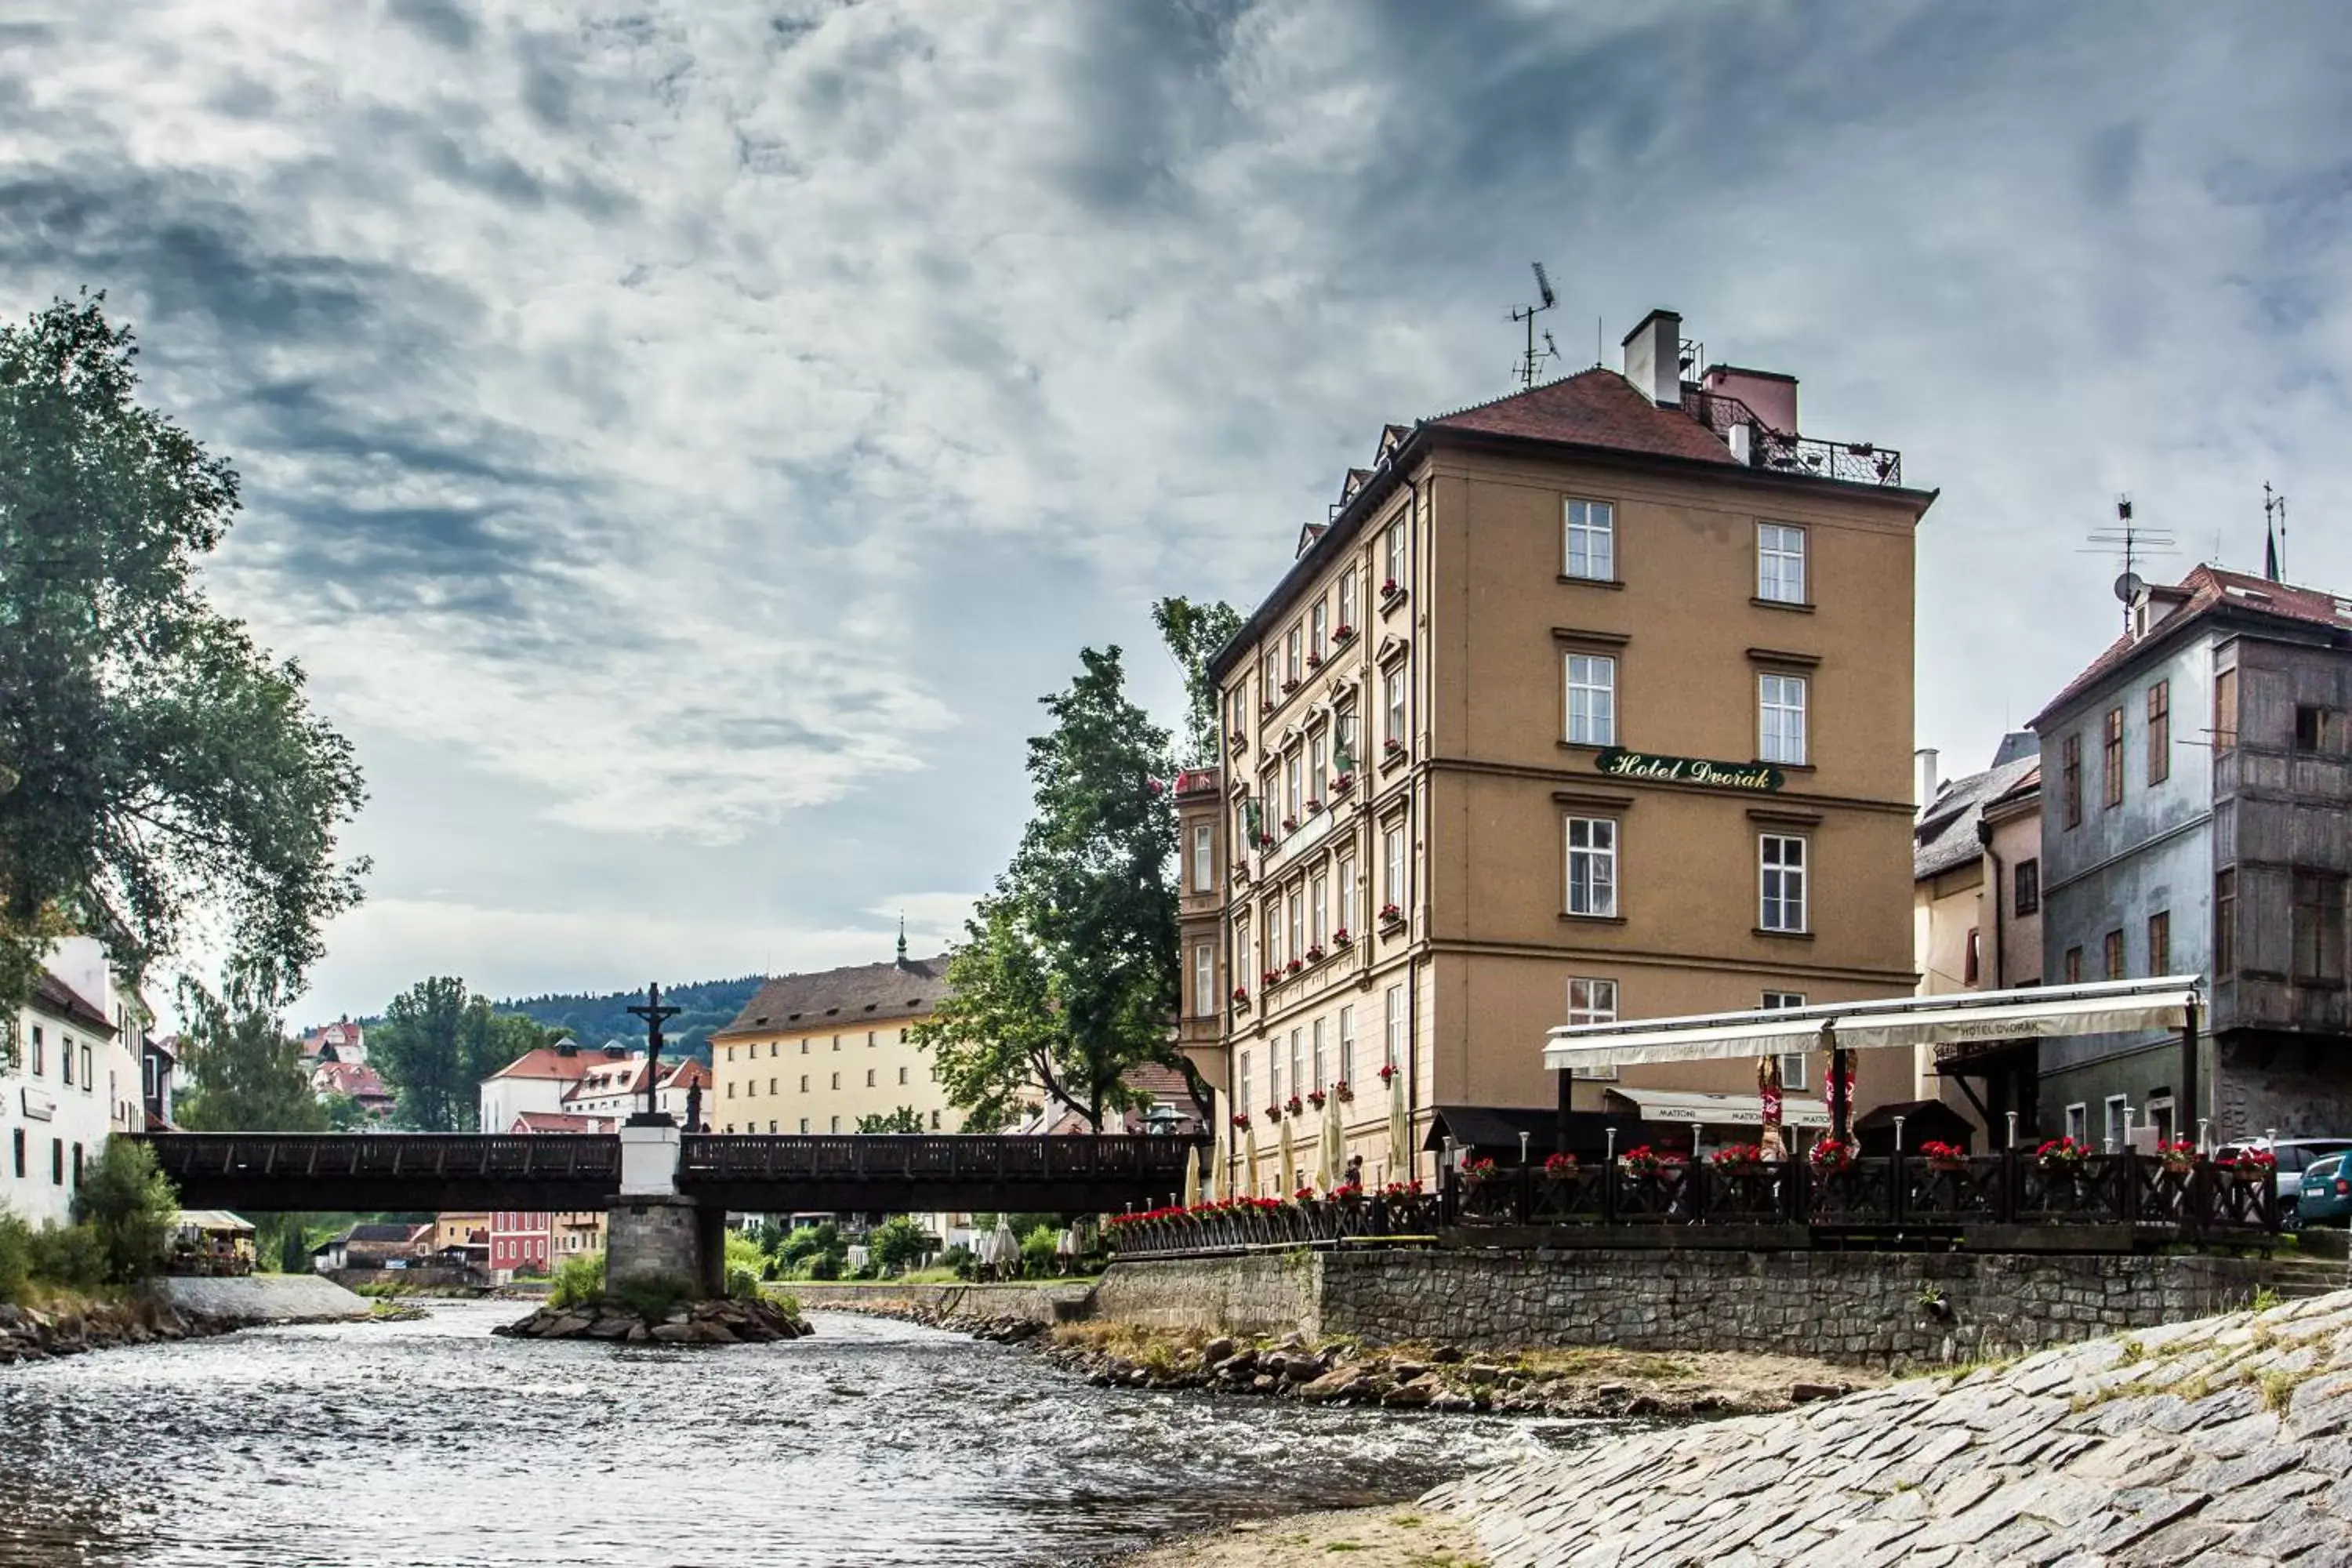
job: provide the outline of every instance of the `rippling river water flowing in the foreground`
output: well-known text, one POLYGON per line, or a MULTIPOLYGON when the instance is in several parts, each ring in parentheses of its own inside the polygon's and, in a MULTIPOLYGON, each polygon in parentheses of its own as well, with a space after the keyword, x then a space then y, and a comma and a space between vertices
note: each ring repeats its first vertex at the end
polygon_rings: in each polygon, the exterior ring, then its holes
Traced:
POLYGON ((489 1338, 517 1314, 0 1371, 0 1563, 1098 1563, 1595 1429, 1091 1389, 833 1314, 715 1352, 489 1338))

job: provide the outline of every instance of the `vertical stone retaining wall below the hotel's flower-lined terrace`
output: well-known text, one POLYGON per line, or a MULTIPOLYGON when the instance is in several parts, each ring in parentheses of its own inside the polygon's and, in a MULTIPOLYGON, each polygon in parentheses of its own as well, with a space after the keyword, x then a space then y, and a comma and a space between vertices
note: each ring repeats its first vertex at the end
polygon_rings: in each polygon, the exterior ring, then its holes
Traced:
POLYGON ((1616 1345, 1889 1371, 2244 1307, 2256 1258, 2023 1253, 1261 1253, 1122 1262, 1094 1316, 1374 1345, 1616 1345))

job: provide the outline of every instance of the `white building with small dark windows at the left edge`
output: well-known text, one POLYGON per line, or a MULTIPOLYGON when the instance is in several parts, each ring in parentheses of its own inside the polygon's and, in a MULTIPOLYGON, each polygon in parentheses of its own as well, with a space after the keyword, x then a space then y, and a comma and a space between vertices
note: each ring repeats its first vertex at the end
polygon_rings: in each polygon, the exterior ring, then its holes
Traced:
POLYGON ((71 938, 16 1016, 16 1063, 0 1072, 0 1204, 66 1225, 82 1166, 108 1133, 143 1131, 139 1041, 146 1009, 118 987, 106 950, 71 938))

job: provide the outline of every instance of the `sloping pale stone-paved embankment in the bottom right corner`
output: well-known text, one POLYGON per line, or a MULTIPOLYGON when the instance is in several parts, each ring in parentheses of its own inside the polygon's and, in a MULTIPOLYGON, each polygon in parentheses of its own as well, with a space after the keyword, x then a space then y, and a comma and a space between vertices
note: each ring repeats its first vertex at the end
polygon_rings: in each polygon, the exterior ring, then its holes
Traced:
POLYGON ((1423 1502, 1491 1568, 2352 1561, 2352 1293, 1541 1455, 1423 1502))

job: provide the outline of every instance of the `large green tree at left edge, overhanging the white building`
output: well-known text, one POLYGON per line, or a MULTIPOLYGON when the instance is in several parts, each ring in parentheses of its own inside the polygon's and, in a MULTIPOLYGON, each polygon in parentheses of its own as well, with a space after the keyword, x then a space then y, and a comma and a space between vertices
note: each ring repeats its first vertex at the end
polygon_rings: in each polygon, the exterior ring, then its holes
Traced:
POLYGON ((350 743, 198 581, 238 475, 134 402, 101 301, 0 327, 0 1018, 68 931, 139 978, 219 924, 294 994, 367 870, 336 858, 350 743))

